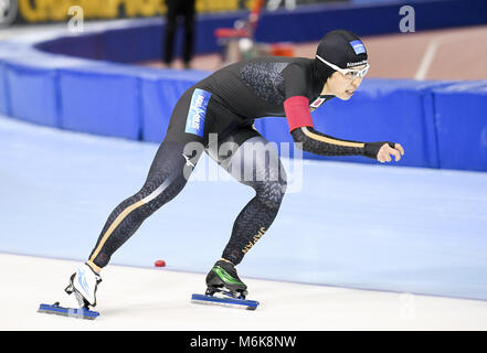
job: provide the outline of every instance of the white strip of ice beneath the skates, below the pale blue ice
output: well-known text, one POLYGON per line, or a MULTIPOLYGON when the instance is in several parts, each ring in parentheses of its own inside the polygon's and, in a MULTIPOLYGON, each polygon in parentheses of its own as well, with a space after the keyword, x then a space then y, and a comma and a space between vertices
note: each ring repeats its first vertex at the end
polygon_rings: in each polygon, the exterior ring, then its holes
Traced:
MULTIPOLYGON (((75 263, 0 255, 0 330, 328 331, 485 330, 487 302, 248 279, 260 308, 190 302, 203 274, 109 266, 94 321, 36 313, 52 303, 75 263), (8 290, 6 290, 8 289, 8 290)), ((57 299, 56 299, 57 300, 57 299)))

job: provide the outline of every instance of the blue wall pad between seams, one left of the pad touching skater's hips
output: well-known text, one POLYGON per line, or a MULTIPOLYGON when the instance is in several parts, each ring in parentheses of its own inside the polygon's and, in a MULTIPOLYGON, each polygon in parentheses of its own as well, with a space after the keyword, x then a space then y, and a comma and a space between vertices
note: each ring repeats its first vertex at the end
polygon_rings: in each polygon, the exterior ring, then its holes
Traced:
POLYGON ((139 139, 137 76, 114 65, 60 69, 60 127, 81 132, 139 139))

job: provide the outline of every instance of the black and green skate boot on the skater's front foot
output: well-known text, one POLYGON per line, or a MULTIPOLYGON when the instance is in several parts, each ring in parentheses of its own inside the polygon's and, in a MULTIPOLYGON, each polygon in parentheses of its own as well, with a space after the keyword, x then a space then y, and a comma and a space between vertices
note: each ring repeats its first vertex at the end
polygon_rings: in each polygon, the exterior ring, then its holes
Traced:
POLYGON ((225 260, 219 260, 207 276, 207 296, 223 292, 233 298, 245 299, 247 286, 239 278, 235 266, 225 260))

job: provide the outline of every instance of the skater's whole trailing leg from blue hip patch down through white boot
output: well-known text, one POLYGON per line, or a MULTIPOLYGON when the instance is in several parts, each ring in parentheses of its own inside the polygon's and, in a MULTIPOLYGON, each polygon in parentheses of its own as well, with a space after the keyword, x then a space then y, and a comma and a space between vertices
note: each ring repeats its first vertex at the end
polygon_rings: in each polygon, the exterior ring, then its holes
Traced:
POLYGON ((65 291, 74 292, 81 306, 96 303, 99 271, 112 255, 147 217, 184 188, 207 142, 204 121, 210 97, 210 93, 192 87, 176 104, 144 186, 112 212, 88 260, 70 279, 65 291), (194 106, 193 101, 199 105, 194 106))

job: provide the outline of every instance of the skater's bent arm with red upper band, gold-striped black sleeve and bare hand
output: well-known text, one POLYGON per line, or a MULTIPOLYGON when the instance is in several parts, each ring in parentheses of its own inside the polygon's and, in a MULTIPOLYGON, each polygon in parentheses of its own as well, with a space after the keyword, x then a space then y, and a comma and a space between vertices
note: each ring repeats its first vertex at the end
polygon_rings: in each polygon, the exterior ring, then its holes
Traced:
POLYGON ((404 154, 400 143, 342 140, 315 130, 309 114, 309 100, 304 96, 286 99, 284 108, 293 140, 304 151, 321 156, 364 156, 382 163, 390 162, 391 156, 399 161, 404 154))

